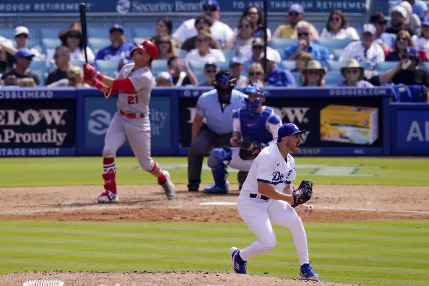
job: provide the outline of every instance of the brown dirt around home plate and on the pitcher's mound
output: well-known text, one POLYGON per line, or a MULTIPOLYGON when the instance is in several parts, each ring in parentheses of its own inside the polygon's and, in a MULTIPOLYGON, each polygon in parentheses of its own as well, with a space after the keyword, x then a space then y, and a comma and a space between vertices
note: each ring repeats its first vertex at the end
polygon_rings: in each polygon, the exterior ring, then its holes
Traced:
MULTIPOLYGON (((234 205, 239 194, 237 185, 231 185, 225 195, 191 193, 186 185, 177 185, 174 200, 167 200, 158 185, 121 185, 117 204, 97 203, 100 186, 0 188, 0 193, 3 194, 0 220, 242 222, 234 205)), ((429 219, 429 187, 317 185, 310 202, 315 212, 309 217, 301 216, 304 222, 429 219), (409 194, 419 200, 411 202, 409 194)), ((60 279, 65 286, 315 285, 294 279, 230 273, 64 271, 0 275, 0 284, 22 285, 30 279, 60 279)))

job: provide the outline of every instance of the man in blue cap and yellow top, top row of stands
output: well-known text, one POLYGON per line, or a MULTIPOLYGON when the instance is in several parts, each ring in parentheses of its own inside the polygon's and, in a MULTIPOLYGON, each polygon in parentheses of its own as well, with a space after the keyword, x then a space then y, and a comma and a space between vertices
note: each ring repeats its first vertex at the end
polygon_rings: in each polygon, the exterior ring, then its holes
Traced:
MULTIPOLYGON (((304 20, 304 8, 302 8, 302 6, 297 3, 291 4, 288 10, 289 25, 278 26, 274 31, 273 37, 297 39, 298 35, 296 31, 296 25, 302 20, 304 20)), ((308 27, 313 35, 313 39, 318 39, 319 32, 317 29, 311 23, 308 23, 308 27)))

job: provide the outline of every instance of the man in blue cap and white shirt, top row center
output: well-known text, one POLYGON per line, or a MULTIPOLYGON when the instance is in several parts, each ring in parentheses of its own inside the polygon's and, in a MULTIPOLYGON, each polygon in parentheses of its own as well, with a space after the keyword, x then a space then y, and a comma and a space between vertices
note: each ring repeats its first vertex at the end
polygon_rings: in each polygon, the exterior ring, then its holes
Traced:
MULTIPOLYGON (((219 21, 221 17, 221 6, 217 0, 206 0, 203 5, 202 16, 210 18, 212 25, 210 31, 212 38, 219 41, 223 46, 226 41, 234 36, 231 28, 225 23, 219 21)), ((173 33, 173 37, 178 38, 180 41, 184 41, 189 37, 197 35, 197 29, 195 28, 195 18, 186 20, 181 23, 176 32, 173 33)))

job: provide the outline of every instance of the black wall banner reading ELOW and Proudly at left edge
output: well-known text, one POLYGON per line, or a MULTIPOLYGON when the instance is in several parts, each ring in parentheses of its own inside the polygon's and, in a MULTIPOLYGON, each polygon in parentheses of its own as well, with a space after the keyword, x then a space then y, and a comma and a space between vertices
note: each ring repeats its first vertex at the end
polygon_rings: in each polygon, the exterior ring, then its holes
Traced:
POLYGON ((75 99, 2 101, 0 156, 74 155, 75 148, 75 99))

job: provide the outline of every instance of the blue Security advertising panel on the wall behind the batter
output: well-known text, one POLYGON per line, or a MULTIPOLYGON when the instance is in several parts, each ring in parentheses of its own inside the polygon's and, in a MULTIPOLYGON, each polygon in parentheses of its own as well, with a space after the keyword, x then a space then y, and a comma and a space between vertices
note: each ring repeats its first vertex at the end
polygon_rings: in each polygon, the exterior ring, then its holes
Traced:
MULTIPOLYGON (((82 154, 101 155, 109 123, 116 112, 116 97, 106 100, 103 96, 85 96, 84 101, 84 134, 82 154)), ((169 153, 173 147, 172 140, 172 103, 171 95, 157 94, 151 97, 151 150, 154 154, 160 151, 169 153)), ((132 155, 128 141, 118 154, 132 155)))

